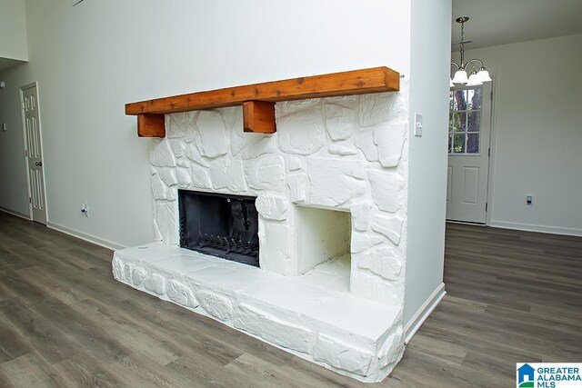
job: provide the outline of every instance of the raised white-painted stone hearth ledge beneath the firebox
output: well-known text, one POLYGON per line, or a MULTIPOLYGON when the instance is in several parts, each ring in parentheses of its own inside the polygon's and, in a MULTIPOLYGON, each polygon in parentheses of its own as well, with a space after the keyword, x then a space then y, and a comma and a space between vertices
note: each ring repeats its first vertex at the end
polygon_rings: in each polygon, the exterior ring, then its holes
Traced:
POLYGON ((363 382, 404 352, 401 308, 161 243, 115 251, 116 280, 363 382))

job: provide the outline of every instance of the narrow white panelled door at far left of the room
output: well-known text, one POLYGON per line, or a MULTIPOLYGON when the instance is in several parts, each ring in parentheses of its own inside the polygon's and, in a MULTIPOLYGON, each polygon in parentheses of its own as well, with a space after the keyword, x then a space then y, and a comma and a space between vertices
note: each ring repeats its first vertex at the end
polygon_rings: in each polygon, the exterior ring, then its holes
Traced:
POLYGON ((21 99, 25 127, 25 157, 28 170, 28 202, 33 220, 40 224, 46 224, 45 174, 36 85, 23 87, 21 99))

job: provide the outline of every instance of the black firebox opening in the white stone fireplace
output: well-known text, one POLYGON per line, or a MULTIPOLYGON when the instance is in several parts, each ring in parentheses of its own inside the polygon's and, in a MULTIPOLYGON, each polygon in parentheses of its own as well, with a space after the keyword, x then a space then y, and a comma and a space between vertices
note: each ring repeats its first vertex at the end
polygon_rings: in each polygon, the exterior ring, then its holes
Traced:
POLYGON ((251 196, 178 190, 180 246, 258 267, 255 200, 251 196))

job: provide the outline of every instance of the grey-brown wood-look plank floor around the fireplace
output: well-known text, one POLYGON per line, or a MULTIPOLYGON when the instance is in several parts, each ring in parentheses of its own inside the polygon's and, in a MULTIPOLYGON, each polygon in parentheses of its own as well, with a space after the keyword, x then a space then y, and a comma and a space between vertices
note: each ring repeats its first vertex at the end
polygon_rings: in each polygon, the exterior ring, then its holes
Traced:
POLYGON ((447 226, 447 296, 381 384, 113 280, 111 251, 0 213, 0 386, 515 386, 582 361, 582 238, 447 226))

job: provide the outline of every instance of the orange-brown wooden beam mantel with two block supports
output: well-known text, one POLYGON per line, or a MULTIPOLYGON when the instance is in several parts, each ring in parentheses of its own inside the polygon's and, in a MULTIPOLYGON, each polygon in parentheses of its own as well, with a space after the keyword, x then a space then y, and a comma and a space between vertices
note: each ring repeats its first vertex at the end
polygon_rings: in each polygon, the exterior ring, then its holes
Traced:
POLYGON ((398 90, 400 75, 382 66, 173 95, 125 104, 125 114, 137 115, 139 136, 165 137, 164 114, 243 105, 245 132, 273 134, 276 132, 276 102, 398 90))

